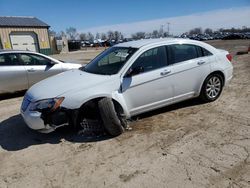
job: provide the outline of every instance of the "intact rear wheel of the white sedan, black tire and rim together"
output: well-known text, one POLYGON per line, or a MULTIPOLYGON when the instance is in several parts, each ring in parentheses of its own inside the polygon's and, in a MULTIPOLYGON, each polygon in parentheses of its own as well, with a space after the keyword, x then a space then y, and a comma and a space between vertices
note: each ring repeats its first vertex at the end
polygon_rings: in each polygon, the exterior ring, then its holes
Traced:
POLYGON ((204 81, 199 98, 203 102, 213 102, 219 98, 222 89, 222 76, 220 74, 211 74, 204 81))

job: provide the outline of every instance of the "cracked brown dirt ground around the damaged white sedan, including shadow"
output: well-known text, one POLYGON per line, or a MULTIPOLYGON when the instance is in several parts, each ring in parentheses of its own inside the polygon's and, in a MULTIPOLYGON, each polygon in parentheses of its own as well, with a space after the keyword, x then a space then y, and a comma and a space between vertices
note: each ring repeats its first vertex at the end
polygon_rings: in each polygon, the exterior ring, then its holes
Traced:
MULTIPOLYGON (((235 54, 250 41, 213 41, 235 54)), ((22 97, 0 101, 0 187, 250 187, 250 54, 219 100, 143 114, 116 138, 26 127, 22 97)))

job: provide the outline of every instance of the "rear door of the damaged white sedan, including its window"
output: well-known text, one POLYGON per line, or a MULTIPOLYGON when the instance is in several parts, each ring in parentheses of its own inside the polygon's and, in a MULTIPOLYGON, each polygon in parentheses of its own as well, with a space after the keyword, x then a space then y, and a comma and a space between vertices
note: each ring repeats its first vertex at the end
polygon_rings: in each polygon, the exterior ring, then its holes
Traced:
POLYGON ((192 44, 173 44, 167 47, 168 62, 173 66, 175 101, 194 97, 210 73, 211 57, 192 44))

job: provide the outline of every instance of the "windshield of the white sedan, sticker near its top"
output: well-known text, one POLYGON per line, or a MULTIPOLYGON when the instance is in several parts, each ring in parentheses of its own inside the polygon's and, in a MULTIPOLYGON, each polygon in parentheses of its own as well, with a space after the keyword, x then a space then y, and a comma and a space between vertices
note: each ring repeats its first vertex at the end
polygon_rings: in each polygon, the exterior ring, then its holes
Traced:
POLYGON ((131 47, 111 47, 80 70, 93 74, 117 74, 137 49, 131 47))

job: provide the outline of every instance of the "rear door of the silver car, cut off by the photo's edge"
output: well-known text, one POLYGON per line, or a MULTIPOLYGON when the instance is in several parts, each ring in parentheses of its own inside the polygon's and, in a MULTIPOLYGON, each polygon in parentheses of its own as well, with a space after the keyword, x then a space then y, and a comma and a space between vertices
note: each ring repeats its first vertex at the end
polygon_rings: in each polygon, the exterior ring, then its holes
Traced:
POLYGON ((14 53, 0 54, 0 93, 26 90, 28 77, 26 70, 14 53))

